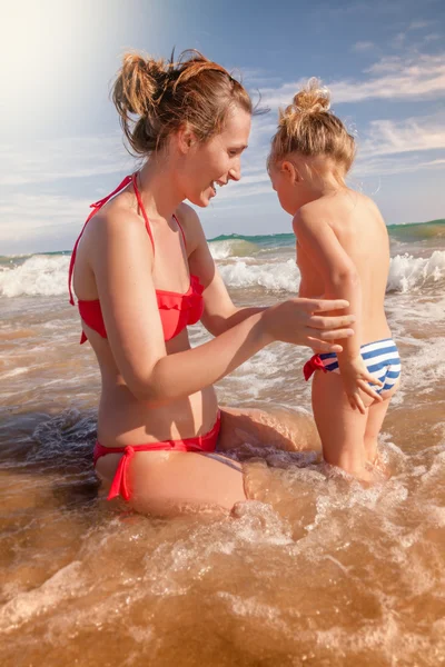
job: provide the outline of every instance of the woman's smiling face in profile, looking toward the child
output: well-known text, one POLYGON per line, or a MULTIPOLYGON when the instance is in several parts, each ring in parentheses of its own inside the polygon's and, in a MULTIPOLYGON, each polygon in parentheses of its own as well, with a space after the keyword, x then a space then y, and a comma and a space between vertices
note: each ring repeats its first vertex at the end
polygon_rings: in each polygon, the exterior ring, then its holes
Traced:
POLYGON ((182 185, 186 198, 206 207, 216 197, 216 186, 226 186, 241 178, 241 153, 247 148, 251 116, 233 107, 226 127, 206 143, 196 143, 187 155, 182 185))

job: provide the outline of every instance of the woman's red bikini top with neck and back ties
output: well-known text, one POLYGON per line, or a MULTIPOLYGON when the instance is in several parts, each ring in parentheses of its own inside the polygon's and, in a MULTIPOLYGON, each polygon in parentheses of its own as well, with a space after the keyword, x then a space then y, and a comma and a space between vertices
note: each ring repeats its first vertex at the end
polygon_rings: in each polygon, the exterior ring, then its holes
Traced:
MULTIPOLYGON (((71 255, 71 261, 70 261, 69 273, 68 273, 68 289, 69 289, 69 295, 70 295, 70 303, 72 306, 75 306, 75 299, 73 299, 72 289, 71 289, 72 272, 75 269, 77 247, 82 237, 85 228, 87 227, 88 222, 91 220, 92 216, 95 216, 97 213, 97 211, 105 203, 107 203, 107 201, 109 199, 111 199, 111 197, 117 195, 120 190, 123 190, 123 188, 129 186, 131 182, 135 188, 135 195, 138 200, 139 208, 142 212, 144 220, 146 222, 146 229, 147 229, 148 236, 150 237, 151 245, 154 248, 154 255, 155 255, 155 241, 154 241, 154 237, 151 233, 150 223, 148 221, 148 217, 147 217, 146 210, 144 208, 142 199, 141 199, 139 190, 138 190, 138 186, 136 182, 136 173, 134 173, 132 176, 127 176, 122 180, 122 182, 116 188, 116 190, 113 190, 113 192, 111 192, 111 195, 108 195, 107 197, 105 197, 103 199, 100 199, 100 201, 97 201, 96 203, 91 203, 91 208, 93 210, 88 216, 87 221, 83 225, 83 228, 75 243, 75 248, 73 248, 72 255, 71 255)), ((184 229, 180 226, 179 220, 176 218, 176 216, 175 216, 175 220, 178 223, 179 229, 181 230, 184 243, 186 245, 186 237, 184 233, 184 229)), ((190 275, 190 287, 184 295, 178 293, 178 292, 166 291, 162 289, 156 290, 156 297, 158 300, 158 308, 159 308, 160 319, 162 322, 165 340, 171 340, 171 338, 175 338, 175 336, 178 336, 178 334, 180 334, 180 331, 182 331, 182 329, 185 329, 188 325, 195 325, 197 321, 199 321, 201 319, 202 311, 204 311, 202 291, 204 291, 204 286, 200 283, 198 276, 191 276, 191 275, 190 275)), ((99 299, 89 300, 89 301, 79 299, 78 308, 79 308, 80 317, 85 321, 85 323, 88 327, 90 327, 90 329, 93 329, 95 331, 100 334, 100 336, 102 338, 107 338, 107 331, 106 331, 105 323, 103 323, 103 317, 102 317, 102 311, 100 308, 99 299)), ((87 336, 82 331, 82 335, 80 338, 80 345, 82 342, 85 342, 86 340, 87 340, 87 336)))

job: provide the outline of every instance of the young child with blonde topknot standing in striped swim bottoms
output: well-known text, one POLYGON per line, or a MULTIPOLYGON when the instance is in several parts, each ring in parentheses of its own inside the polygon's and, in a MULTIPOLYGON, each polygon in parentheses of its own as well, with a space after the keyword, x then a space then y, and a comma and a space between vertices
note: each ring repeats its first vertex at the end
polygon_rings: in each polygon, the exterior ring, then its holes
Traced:
POLYGON ((313 410, 324 459, 372 480, 400 359, 384 310, 388 235, 376 205, 345 183, 354 156, 354 137, 329 111, 329 92, 310 79, 280 112, 268 169, 294 217, 299 296, 347 299, 345 312, 356 317, 342 352, 316 354, 304 368, 306 380, 316 371, 313 410))

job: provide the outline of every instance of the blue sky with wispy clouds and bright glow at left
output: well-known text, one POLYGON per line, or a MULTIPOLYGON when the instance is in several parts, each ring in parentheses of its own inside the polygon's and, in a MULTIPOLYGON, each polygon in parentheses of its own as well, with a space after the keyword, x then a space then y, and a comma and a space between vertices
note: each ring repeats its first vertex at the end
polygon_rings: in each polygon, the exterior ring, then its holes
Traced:
POLYGON ((207 238, 290 231, 265 160, 312 76, 357 137, 350 185, 387 223, 445 217, 443 0, 22 0, 0 26, 0 255, 70 249, 91 201, 135 168, 109 86, 127 49, 196 48, 239 71, 254 119, 243 178, 200 210, 207 238))

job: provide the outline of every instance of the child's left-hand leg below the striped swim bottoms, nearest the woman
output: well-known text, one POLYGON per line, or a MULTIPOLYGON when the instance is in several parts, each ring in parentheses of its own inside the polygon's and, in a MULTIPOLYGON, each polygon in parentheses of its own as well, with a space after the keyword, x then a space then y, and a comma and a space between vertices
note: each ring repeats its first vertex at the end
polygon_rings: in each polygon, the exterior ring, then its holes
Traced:
POLYGON ((317 370, 313 379, 313 410, 326 462, 362 479, 366 471, 365 431, 370 397, 363 394, 366 414, 353 410, 339 374, 317 370), (368 400, 367 400, 368 399, 368 400))

